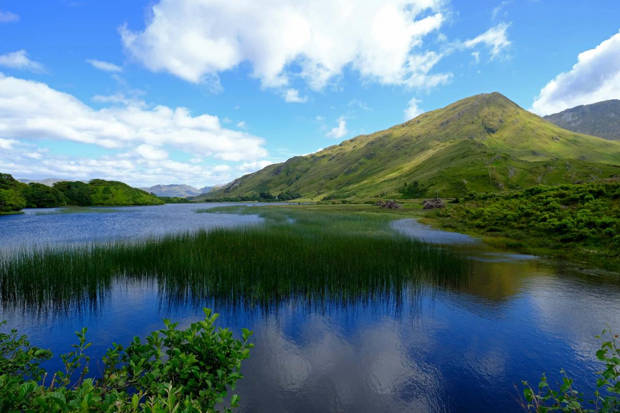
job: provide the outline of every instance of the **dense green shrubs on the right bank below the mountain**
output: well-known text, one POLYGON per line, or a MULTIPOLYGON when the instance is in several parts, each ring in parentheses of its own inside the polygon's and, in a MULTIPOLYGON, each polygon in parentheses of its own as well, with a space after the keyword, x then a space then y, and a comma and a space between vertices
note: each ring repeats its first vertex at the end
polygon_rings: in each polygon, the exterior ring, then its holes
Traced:
POLYGON ((521 240, 556 252, 581 249, 617 260, 620 182, 471 193, 433 212, 449 228, 521 240))

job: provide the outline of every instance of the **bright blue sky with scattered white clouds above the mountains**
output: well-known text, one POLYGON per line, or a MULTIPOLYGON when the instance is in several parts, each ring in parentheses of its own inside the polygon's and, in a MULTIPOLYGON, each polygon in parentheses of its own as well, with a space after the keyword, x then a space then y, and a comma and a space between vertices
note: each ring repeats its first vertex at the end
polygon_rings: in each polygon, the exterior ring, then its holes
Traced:
POLYGON ((0 172, 224 184, 498 91, 620 99, 617 0, 0 0, 0 172))

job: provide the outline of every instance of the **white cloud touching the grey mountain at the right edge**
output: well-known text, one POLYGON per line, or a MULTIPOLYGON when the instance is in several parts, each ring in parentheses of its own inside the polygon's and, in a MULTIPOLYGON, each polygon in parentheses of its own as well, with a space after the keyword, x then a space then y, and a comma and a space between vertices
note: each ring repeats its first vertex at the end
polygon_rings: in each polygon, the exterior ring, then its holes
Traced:
POLYGON ((580 53, 577 63, 541 89, 531 111, 539 115, 620 98, 620 33, 580 53))

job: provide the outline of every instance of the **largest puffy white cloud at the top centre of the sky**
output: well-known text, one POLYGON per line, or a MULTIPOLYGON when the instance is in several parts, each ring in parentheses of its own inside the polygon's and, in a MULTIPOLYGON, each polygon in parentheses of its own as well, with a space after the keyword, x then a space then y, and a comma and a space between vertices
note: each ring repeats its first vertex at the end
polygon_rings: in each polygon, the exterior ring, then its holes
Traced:
POLYGON ((265 87, 283 87, 291 76, 301 76, 319 90, 345 67, 382 84, 427 87, 449 79, 429 73, 440 56, 423 49, 423 38, 446 20, 443 4, 160 0, 144 30, 124 26, 120 35, 146 68, 189 82, 214 81, 247 61, 265 87))

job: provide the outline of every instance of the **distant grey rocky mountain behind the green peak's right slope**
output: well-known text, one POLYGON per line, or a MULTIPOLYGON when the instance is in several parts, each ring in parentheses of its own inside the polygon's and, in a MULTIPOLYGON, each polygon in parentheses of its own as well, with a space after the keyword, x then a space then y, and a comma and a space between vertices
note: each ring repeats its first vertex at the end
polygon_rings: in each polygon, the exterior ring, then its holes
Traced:
POLYGON ((620 140, 620 100, 580 105, 544 117, 557 126, 578 133, 620 140))

